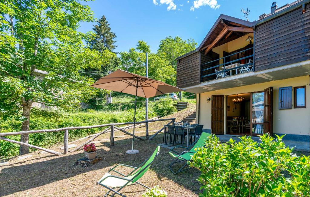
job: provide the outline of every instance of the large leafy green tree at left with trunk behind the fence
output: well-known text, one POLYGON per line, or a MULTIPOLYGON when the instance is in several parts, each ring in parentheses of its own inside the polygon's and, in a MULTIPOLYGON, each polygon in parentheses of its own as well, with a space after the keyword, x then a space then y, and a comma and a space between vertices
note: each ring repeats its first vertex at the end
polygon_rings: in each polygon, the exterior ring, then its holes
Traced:
MULTIPOLYGON (((29 130, 31 106, 41 102, 71 109, 97 94, 79 70, 108 64, 115 54, 83 45, 93 33, 77 31, 80 22, 94 21, 78 0, 3 0, 1 3, 1 112, 22 109, 22 130, 29 130), (17 47, 16 47, 17 46, 17 47), (38 70, 47 74, 38 78, 38 70)), ((20 141, 28 143, 28 135, 20 141)), ((20 154, 29 152, 20 146, 20 154)))

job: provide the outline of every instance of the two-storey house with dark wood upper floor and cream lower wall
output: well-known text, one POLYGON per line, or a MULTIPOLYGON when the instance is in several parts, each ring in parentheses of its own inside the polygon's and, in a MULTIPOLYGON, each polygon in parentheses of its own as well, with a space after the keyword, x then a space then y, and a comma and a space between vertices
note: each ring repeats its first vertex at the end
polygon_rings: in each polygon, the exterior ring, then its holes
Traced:
POLYGON ((177 86, 197 93, 206 132, 309 141, 309 70, 309 0, 273 2, 253 22, 221 14, 177 58, 177 86))

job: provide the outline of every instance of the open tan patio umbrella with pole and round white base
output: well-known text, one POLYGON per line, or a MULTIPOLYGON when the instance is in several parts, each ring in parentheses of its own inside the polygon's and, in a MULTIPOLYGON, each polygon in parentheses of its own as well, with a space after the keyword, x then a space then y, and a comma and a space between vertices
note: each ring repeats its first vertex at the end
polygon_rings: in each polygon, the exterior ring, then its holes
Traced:
POLYGON ((135 95, 135 112, 134 112, 134 128, 132 137, 132 150, 128 150, 127 153, 139 153, 138 150, 134 150, 135 139, 135 114, 137 108, 137 96, 150 98, 160 94, 166 94, 170 92, 179 92, 181 89, 166 84, 162 81, 157 81, 148 77, 133 74, 121 69, 118 69, 111 74, 101 77, 98 81, 91 85, 91 87, 101 88, 105 90, 113 90, 117 92, 123 92, 127 94, 135 95))

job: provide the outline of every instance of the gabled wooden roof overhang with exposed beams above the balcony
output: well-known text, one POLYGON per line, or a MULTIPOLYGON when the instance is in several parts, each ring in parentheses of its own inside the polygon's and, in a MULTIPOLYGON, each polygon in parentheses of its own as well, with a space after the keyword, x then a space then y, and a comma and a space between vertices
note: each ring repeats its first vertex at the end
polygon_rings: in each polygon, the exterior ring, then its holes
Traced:
POLYGON ((207 54, 216 46, 235 40, 248 33, 253 33, 255 22, 221 14, 196 50, 204 51, 207 54))

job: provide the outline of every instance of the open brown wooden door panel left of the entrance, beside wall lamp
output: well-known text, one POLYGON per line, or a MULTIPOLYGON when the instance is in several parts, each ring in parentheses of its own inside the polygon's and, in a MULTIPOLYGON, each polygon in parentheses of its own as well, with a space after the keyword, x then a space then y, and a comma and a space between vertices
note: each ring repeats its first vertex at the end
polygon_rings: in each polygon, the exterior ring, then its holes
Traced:
POLYGON ((224 95, 212 95, 211 133, 224 134, 224 95))

